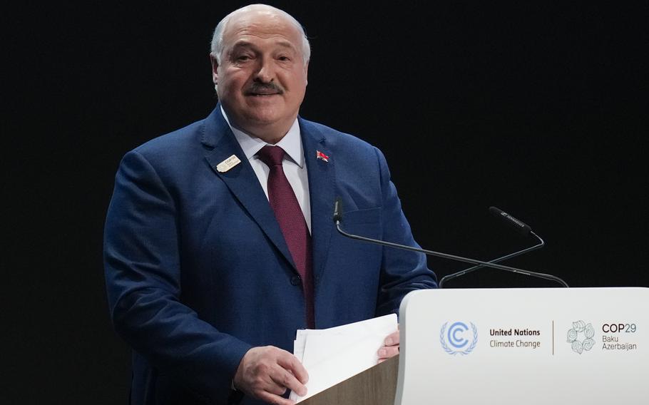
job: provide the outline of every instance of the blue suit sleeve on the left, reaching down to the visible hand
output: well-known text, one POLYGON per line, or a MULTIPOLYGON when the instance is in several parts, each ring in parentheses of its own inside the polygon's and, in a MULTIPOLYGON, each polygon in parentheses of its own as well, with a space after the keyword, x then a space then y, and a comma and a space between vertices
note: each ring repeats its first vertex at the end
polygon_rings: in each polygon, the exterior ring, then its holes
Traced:
POLYGON ((156 369, 208 399, 223 398, 250 345, 180 302, 180 248, 173 196, 143 155, 123 158, 108 207, 104 265, 118 334, 156 369))

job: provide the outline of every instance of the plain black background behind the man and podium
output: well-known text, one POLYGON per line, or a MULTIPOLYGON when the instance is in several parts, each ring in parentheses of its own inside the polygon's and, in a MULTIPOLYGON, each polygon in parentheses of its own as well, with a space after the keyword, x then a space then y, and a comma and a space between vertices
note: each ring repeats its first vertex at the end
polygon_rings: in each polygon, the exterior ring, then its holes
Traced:
MULTIPOLYGON (((302 116, 381 148, 419 244, 572 287, 649 287, 648 2, 272 1, 312 44, 302 116)), ((124 404, 102 232, 126 151, 215 105, 239 1, 4 9, 2 404, 124 404)), ((431 258, 439 277, 464 267, 431 258)), ((449 287, 555 287, 481 270, 449 287)))

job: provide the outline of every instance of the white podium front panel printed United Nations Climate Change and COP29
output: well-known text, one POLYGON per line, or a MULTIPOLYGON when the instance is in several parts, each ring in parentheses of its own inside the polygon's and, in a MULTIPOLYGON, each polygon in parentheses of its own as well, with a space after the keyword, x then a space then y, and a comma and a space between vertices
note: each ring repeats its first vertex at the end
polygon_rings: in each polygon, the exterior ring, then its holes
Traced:
POLYGON ((649 289, 429 289, 399 310, 395 405, 649 404, 649 289))

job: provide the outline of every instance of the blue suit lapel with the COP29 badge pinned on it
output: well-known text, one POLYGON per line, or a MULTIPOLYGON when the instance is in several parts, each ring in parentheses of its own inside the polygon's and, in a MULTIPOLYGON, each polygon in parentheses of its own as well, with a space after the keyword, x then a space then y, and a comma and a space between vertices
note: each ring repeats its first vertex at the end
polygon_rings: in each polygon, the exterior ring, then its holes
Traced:
POLYGON ((217 105, 205 120, 201 142, 208 147, 205 158, 210 163, 214 173, 223 180, 232 195, 239 200, 252 219, 257 222, 261 230, 295 270, 295 263, 286 245, 284 235, 282 235, 280 225, 277 223, 275 213, 272 212, 264 190, 259 185, 255 171, 252 170, 252 166, 245 158, 235 135, 230 130, 230 125, 223 118, 220 105, 217 105), (216 168, 217 165, 232 155, 237 156, 241 163, 230 168, 230 170, 220 173, 216 168))

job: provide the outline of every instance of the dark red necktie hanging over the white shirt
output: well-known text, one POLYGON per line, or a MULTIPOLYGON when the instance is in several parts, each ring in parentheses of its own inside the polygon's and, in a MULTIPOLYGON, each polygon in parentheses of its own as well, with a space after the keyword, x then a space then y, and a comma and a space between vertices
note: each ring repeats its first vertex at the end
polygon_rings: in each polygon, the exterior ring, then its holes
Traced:
POLYGON ((284 155, 284 150, 279 146, 267 145, 257 152, 257 156, 270 168, 268 200, 272 210, 275 211, 275 217, 282 229, 288 250, 291 252, 297 272, 302 279, 302 289, 305 294, 305 306, 307 309, 307 327, 313 329, 315 327, 315 317, 313 309, 311 235, 293 188, 284 174, 284 168, 282 168, 284 155))

